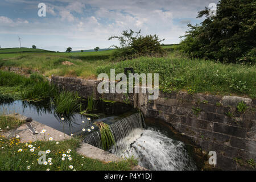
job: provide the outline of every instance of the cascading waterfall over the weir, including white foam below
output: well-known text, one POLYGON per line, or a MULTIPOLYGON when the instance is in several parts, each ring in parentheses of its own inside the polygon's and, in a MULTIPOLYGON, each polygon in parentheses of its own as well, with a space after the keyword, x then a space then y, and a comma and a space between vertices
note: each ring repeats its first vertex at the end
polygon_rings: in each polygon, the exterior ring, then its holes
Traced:
MULTIPOLYGON (((183 142, 168 138, 153 128, 143 129, 144 119, 135 113, 110 125, 115 145, 110 152, 121 158, 135 158, 150 170, 196 170, 183 142)), ((101 147, 100 131, 94 131, 84 142, 101 147)))

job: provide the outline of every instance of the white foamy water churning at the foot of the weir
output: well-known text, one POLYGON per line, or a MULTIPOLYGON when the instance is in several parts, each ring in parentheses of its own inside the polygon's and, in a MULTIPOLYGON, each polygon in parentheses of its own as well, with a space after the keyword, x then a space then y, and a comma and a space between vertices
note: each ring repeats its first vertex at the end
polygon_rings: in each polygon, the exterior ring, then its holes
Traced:
POLYGON ((150 170, 196 170, 183 142, 168 138, 152 128, 133 130, 110 151, 123 158, 133 156, 140 166, 150 170))

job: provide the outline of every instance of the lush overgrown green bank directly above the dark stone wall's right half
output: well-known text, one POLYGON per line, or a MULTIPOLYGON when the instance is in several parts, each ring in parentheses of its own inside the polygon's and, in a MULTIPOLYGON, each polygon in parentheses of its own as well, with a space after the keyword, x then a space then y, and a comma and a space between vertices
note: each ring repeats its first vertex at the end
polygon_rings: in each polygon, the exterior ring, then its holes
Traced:
POLYGON ((188 59, 170 53, 167 57, 139 57, 103 65, 97 73, 108 73, 115 68, 115 74, 124 68, 134 68, 136 73, 159 73, 159 87, 163 92, 186 90, 189 94, 211 93, 256 98, 256 66, 222 64, 210 60, 188 59))

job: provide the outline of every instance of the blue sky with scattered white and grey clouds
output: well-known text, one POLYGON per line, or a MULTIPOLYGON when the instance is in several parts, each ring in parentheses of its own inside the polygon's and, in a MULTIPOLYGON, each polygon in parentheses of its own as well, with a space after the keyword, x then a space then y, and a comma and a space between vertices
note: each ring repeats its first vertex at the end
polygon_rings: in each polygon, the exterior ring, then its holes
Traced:
POLYGON ((198 11, 218 0, 0 0, 0 46, 65 51, 118 46, 110 36, 123 30, 180 42, 187 23, 201 23, 198 11), (46 16, 39 16, 39 3, 46 16))

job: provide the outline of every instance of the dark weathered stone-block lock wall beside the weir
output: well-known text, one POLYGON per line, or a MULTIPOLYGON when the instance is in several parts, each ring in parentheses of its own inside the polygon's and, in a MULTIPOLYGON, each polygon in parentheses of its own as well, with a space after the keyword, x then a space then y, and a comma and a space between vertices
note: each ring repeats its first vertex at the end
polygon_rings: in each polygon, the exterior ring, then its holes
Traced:
POLYGON ((189 95, 185 92, 159 92, 157 100, 148 100, 147 94, 141 93, 99 94, 96 80, 52 77, 51 81, 59 89, 79 92, 80 96, 129 102, 141 109, 146 117, 163 119, 194 140, 204 151, 216 151, 218 168, 253 169, 244 162, 256 161, 256 100, 236 96, 189 95), (249 107, 245 113, 236 110, 241 101, 249 107), (236 159, 242 159, 243 163, 236 159))

